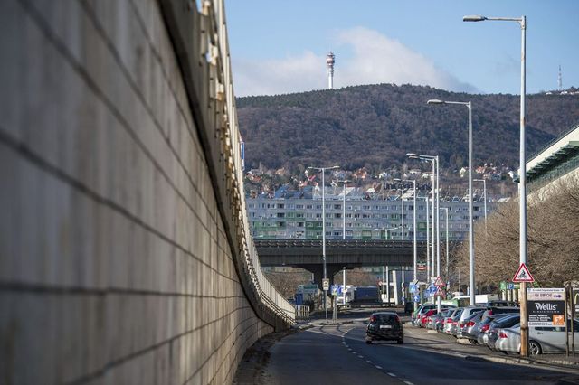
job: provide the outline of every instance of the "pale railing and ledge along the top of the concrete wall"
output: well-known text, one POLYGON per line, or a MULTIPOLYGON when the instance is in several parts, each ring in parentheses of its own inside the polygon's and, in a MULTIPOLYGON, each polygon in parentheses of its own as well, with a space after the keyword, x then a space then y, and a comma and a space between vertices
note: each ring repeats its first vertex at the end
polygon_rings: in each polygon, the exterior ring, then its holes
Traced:
POLYGON ((161 5, 192 108, 203 117, 198 128, 244 291, 264 321, 294 324, 293 305, 261 272, 250 231, 223 0, 201 1, 201 9, 195 2, 184 8, 181 0, 163 0, 161 5))

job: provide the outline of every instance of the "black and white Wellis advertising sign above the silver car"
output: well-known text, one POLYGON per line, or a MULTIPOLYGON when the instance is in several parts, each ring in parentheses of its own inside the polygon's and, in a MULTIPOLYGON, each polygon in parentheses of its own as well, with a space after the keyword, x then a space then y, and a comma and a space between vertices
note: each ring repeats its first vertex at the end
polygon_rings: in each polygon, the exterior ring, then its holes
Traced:
POLYGON ((565 289, 527 289, 529 326, 565 326, 565 289))

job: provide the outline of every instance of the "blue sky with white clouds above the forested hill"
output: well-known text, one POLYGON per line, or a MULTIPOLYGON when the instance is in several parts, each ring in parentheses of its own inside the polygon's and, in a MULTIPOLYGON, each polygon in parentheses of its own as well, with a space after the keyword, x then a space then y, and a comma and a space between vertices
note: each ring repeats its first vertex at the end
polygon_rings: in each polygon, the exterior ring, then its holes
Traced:
POLYGON ((394 83, 520 93, 517 22, 527 16, 527 94, 579 86, 579 0, 225 0, 238 97, 394 83))

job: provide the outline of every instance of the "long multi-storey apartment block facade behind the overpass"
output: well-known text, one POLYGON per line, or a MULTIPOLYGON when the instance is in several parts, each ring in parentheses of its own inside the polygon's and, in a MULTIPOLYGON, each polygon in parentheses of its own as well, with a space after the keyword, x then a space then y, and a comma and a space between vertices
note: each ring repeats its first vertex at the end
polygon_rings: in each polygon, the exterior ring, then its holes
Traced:
MULTIPOLYGON (((451 240, 463 239, 469 232, 467 199, 440 201, 440 207, 449 211, 451 240)), ((341 193, 327 191, 325 212, 322 212, 320 193, 310 194, 308 198, 258 197, 246 201, 254 239, 322 239, 323 221, 326 221, 326 239, 413 239, 412 193, 408 197, 363 199, 353 191, 346 193, 344 201, 341 193)), ((432 229, 432 199, 426 202, 426 196, 419 194, 416 206, 416 236, 419 240, 426 240, 426 229, 432 229)), ((493 207, 493 203, 487 204, 488 211, 493 207)), ((474 221, 484 220, 484 200, 475 197, 473 217, 474 221)), ((441 239, 446 239, 446 211, 442 209, 440 230, 441 239)))

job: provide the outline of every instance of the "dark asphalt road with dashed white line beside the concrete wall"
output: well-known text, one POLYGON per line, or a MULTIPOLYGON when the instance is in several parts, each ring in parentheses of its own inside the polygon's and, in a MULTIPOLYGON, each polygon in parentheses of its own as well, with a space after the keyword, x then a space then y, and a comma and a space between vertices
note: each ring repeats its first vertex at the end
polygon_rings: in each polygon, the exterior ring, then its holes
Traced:
MULTIPOLYGON (((404 326, 404 344, 364 341, 365 319, 316 326, 289 335, 270 350, 266 384, 547 384, 565 372, 529 365, 466 360, 444 352, 436 335, 404 326)), ((451 342, 449 342, 451 343, 451 342)), ((476 353, 475 353, 476 354, 476 353)), ((565 382, 566 383, 566 382, 565 382)))

